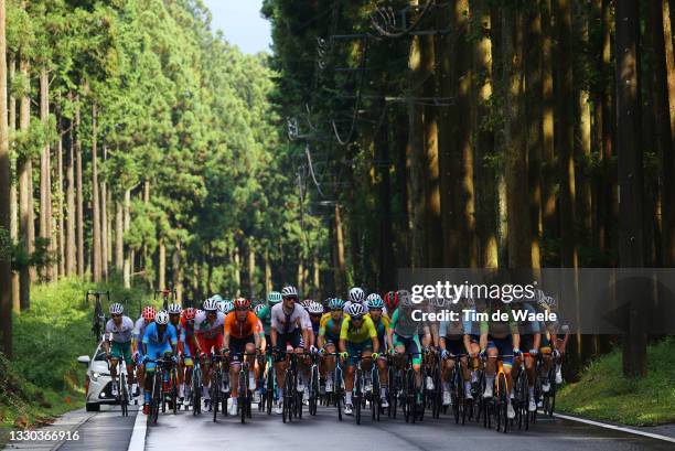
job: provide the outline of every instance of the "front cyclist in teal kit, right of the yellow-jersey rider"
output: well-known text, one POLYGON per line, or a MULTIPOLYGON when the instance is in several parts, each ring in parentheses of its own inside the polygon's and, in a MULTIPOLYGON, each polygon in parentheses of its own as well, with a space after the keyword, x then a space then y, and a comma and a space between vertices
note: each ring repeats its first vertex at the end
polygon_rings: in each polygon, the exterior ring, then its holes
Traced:
POLYGON ((431 331, 428 324, 421 324, 413 320, 413 310, 416 307, 409 296, 400 296, 399 307, 392 316, 389 323, 389 342, 394 344, 390 351, 396 356, 396 367, 404 366, 404 356, 408 354, 415 372, 415 386, 418 395, 421 395, 421 348, 431 344, 431 331), (421 343, 419 337, 422 337, 421 343))

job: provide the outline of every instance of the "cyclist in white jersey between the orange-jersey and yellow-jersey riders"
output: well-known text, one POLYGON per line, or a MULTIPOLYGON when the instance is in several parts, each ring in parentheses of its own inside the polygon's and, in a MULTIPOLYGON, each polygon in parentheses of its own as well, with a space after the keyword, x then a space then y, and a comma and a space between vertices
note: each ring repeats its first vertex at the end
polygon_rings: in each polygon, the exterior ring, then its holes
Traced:
MULTIPOLYGON (((277 373, 277 394, 280 401, 277 402, 276 411, 283 414, 283 399, 280 393, 286 380, 286 358, 288 346, 290 352, 296 354, 309 353, 309 331, 312 329, 309 314, 298 304, 298 290, 296 287, 288 286, 281 290, 282 302, 271 309, 271 345, 275 352, 275 371, 277 373)), ((300 366, 300 364, 299 364, 300 366)), ((298 391, 304 391, 304 386, 300 374, 302 368, 298 368, 298 391)))

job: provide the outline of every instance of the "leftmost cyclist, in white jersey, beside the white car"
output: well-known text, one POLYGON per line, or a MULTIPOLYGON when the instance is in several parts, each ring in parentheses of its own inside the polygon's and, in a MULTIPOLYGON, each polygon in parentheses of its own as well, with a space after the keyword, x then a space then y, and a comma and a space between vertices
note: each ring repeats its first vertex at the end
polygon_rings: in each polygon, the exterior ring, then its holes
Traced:
POLYGON ((133 384, 133 358, 131 356, 131 336, 133 334, 133 321, 122 315, 125 308, 116 302, 110 305, 110 319, 106 323, 106 333, 104 348, 106 350, 106 358, 110 362, 110 377, 113 377, 113 396, 117 396, 117 364, 120 359, 125 359, 127 366, 127 385, 129 393, 133 384), (110 345, 110 342, 113 345, 110 345))

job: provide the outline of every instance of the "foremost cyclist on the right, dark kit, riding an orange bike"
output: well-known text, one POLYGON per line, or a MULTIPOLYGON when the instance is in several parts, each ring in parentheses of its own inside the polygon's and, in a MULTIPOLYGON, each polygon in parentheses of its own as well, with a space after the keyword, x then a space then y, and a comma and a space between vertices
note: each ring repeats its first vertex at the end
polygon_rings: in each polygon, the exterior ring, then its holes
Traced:
MULTIPOLYGON (((499 302, 499 301, 497 301, 499 302)), ((494 305, 488 307, 486 313, 492 319, 492 311, 494 305)), ((504 374, 506 375, 506 386, 510 387, 511 393, 507 396, 507 416, 510 419, 515 418, 515 410, 511 402, 511 396, 513 395, 513 382, 511 376, 511 368, 513 366, 513 357, 521 355, 521 335, 518 332, 518 325, 513 320, 513 314, 508 304, 502 304, 500 302, 500 309, 508 313, 507 321, 481 321, 481 356, 488 355, 485 364, 485 390, 483 391, 483 398, 491 398, 493 394, 494 377, 496 373, 496 358, 502 357, 502 364, 504 366, 504 374)))

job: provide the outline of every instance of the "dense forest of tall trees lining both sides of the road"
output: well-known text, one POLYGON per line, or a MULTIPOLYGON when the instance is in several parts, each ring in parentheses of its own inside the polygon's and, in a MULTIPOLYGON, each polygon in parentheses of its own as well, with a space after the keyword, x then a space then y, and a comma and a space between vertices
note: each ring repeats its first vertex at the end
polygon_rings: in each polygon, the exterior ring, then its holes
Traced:
POLYGON ((253 56, 200 0, 0 13, 8 355, 12 310, 64 277, 186 303, 675 262, 669 0, 265 0, 253 56))

